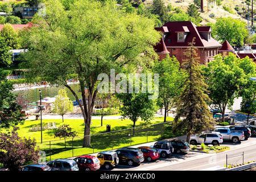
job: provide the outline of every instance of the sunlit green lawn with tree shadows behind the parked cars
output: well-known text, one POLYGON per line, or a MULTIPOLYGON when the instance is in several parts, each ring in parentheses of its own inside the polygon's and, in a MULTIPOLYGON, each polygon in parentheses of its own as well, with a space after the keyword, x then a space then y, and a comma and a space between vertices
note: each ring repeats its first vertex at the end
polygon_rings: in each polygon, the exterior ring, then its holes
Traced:
MULTIPOLYGON (((173 118, 168 117, 167 121, 172 121, 173 118)), ((60 126, 63 122, 61 119, 43 119, 43 123, 55 122, 60 126)), ((38 142, 40 150, 46 152, 47 161, 57 158, 68 158, 82 154, 92 154, 94 152, 112 150, 114 148, 130 146, 139 143, 152 142, 162 138, 174 137, 171 133, 170 123, 164 125, 154 125, 163 122, 163 117, 152 119, 151 122, 137 121, 134 134, 130 129, 133 122, 129 119, 106 119, 101 127, 100 119, 93 119, 91 126, 91 148, 82 148, 82 139, 84 135, 84 123, 82 119, 64 119, 64 123, 77 131, 78 136, 73 139, 67 139, 65 148, 64 139, 54 138, 52 130, 43 131, 43 143, 40 143, 40 131, 30 131, 33 125, 40 125, 40 120, 27 120, 24 125, 20 125, 18 131, 20 137, 35 138, 38 142), (113 133, 105 133, 106 125, 111 125, 113 133), (122 131, 119 131, 122 130, 122 131), (51 140, 51 149, 49 141, 51 140), (73 150, 72 150, 73 146, 73 150)))

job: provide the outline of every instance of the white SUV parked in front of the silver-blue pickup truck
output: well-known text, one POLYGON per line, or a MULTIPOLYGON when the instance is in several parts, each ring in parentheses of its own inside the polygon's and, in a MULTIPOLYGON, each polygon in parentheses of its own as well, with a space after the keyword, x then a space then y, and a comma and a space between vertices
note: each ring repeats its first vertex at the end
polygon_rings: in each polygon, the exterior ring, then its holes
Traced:
POLYGON ((222 135, 219 132, 203 133, 201 135, 192 135, 189 141, 190 144, 207 143, 217 146, 223 143, 222 135))

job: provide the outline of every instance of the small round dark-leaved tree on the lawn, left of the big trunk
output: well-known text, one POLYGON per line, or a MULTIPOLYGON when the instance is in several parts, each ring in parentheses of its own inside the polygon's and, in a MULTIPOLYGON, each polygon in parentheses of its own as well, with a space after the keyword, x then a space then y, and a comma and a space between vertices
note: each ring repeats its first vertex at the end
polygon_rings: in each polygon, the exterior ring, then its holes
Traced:
POLYGON ((77 136, 77 132, 72 131, 72 128, 69 125, 65 125, 65 124, 57 127, 56 129, 53 129, 53 134, 54 134, 54 137, 64 138, 65 148, 67 147, 66 139, 69 137, 74 138, 77 136))

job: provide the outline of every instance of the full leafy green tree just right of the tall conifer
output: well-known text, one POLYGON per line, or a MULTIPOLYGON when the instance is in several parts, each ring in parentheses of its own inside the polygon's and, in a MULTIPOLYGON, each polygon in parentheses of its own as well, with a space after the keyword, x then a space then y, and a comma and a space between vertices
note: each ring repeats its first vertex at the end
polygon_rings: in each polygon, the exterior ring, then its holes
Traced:
POLYGON ((233 53, 222 57, 217 55, 207 67, 203 67, 205 80, 209 85, 209 97, 213 105, 217 105, 222 113, 222 121, 226 107, 231 107, 238 91, 255 72, 255 63, 249 57, 239 59, 233 53))

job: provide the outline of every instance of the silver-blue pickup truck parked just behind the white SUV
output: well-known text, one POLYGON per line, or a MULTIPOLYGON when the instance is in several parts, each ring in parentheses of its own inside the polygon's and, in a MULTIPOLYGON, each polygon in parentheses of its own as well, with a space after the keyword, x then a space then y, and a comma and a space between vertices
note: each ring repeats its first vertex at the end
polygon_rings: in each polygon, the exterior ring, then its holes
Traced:
POLYGON ((228 127, 217 127, 214 131, 220 132, 223 140, 231 140, 233 143, 238 143, 245 139, 243 131, 230 131, 228 127))

